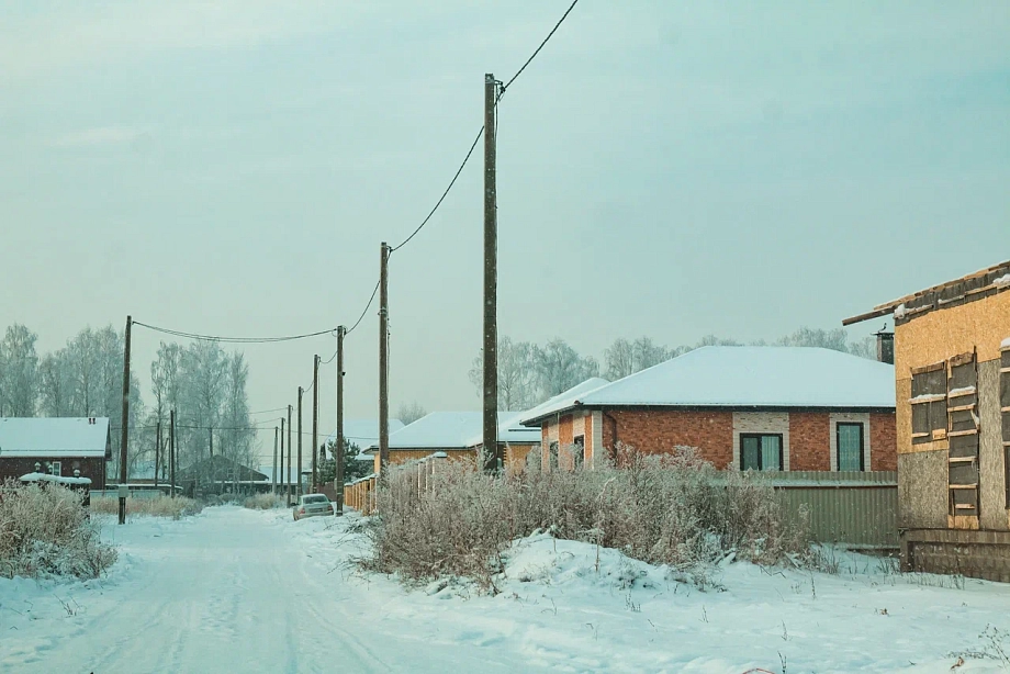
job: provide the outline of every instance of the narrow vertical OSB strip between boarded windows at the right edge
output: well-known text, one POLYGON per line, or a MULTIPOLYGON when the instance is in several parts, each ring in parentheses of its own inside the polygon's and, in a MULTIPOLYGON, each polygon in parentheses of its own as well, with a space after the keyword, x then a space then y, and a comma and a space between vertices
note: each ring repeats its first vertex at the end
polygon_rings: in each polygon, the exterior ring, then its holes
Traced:
POLYGON ((983 529, 1010 530, 999 412, 998 360, 978 364, 978 517, 983 529))

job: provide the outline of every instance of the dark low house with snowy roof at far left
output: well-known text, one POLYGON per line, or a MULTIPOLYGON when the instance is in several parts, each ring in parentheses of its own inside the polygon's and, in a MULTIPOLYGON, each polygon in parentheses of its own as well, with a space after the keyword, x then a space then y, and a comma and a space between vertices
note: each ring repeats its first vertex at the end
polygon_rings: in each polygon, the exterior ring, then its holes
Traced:
POLYGON ((92 490, 104 490, 111 458, 105 417, 0 418, 0 481, 33 472, 72 478, 80 471, 92 490))

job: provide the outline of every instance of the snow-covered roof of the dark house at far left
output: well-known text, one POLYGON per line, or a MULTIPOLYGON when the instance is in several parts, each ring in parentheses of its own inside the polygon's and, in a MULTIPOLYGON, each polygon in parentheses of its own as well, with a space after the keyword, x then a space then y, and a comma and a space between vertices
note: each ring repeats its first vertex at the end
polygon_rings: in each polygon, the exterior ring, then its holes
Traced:
POLYGON ((0 458, 104 457, 109 418, 0 418, 0 458))

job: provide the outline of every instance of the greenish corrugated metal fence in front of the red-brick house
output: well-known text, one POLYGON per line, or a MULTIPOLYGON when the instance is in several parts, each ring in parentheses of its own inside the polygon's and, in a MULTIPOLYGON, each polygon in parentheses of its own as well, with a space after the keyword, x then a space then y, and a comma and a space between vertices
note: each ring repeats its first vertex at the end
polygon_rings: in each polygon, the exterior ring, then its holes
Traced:
POLYGON ((771 482, 790 517, 806 507, 817 542, 898 548, 898 473, 795 471, 771 482))

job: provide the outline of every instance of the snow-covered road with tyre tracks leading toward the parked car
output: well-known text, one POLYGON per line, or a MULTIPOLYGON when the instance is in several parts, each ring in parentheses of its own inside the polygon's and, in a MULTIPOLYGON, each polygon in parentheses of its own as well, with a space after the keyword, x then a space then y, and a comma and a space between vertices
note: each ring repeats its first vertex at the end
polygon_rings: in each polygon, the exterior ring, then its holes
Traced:
POLYGON ((7 614, 0 616, 0 671, 487 669, 484 659, 426 648, 409 637, 403 643, 396 633, 360 625, 359 603, 367 597, 359 584, 343 582, 339 571, 330 573, 292 536, 321 524, 218 507, 184 521, 141 518, 109 526, 125 566, 111 580, 69 586, 15 581, 30 596, 16 604, 16 593, 3 603, 0 589, 0 611, 7 614), (19 616, 20 624, 12 624, 19 616))

